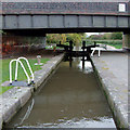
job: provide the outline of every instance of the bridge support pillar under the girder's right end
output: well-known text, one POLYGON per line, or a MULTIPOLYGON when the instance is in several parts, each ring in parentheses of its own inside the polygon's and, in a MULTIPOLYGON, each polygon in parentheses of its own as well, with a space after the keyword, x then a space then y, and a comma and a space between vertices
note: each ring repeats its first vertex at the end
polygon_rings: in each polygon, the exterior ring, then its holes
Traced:
POLYGON ((122 48, 130 50, 130 34, 123 34, 122 48))

